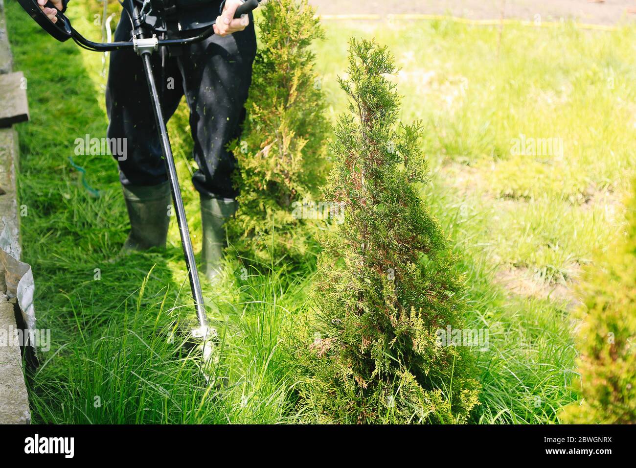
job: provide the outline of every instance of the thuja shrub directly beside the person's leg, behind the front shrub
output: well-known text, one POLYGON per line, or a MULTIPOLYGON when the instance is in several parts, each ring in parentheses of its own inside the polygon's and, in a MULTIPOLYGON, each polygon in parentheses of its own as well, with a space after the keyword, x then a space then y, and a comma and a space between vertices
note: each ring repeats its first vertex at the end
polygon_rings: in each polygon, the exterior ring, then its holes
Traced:
MULTIPOLYGON (((247 259, 300 259, 314 220, 299 216, 328 173, 324 101, 310 45, 323 37, 307 0, 263 4, 242 136, 233 145, 239 210, 228 231, 247 259)), ((315 244, 314 244, 315 246, 315 244)))

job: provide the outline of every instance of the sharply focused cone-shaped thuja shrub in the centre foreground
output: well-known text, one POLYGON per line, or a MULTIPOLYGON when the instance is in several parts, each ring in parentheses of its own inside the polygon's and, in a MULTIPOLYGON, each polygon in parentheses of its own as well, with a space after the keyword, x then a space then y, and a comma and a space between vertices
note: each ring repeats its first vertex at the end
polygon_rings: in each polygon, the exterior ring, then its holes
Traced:
POLYGON ((324 188, 344 222, 321 237, 315 315, 295 350, 312 422, 461 423, 478 404, 466 348, 437 333, 464 327, 463 278, 420 195, 422 127, 398 125, 395 71, 387 48, 352 39, 324 188))

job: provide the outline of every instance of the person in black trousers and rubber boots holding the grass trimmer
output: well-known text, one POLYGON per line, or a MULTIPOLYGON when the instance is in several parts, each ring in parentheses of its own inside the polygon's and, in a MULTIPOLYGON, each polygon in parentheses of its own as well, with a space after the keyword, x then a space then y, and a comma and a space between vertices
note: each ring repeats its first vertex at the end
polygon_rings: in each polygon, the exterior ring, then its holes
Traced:
MULTIPOLYGON (((151 56, 164 118, 170 118, 184 95, 190 109, 193 156, 198 165, 192 181, 200 195, 203 231, 201 270, 214 280, 221 273, 224 224, 237 209, 232 183, 236 160, 227 145, 240 136, 245 117, 256 34, 251 14, 234 18, 242 0, 172 1, 165 12, 167 37, 191 35, 210 25, 216 33, 200 43, 151 56)), ((52 3, 55 8, 38 0, 40 8, 56 22, 57 11, 66 11, 67 0, 52 3)), ((131 36, 132 21, 123 13, 114 41, 128 41, 131 36)), ((130 218, 123 252, 163 248, 170 222, 170 186, 148 84, 141 60, 132 50, 111 52, 106 109, 108 138, 125 138, 127 142, 127 157, 118 160, 130 218)))

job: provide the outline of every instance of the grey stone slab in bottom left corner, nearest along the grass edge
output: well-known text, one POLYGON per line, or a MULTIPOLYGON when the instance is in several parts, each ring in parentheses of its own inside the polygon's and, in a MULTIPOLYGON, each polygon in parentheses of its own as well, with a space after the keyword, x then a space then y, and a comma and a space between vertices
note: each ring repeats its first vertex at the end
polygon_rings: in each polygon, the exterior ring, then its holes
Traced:
POLYGON ((15 339, 15 309, 5 298, 0 296, 0 424, 29 424, 29 398, 15 339))

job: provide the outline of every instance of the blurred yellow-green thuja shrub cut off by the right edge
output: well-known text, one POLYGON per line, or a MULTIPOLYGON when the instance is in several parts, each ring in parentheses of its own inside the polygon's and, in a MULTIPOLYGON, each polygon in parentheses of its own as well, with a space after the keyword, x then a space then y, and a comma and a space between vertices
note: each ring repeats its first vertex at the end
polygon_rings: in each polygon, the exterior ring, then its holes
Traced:
POLYGON ((605 253, 585 281, 578 336, 582 400, 563 422, 636 423, 636 199, 626 236, 605 253))

